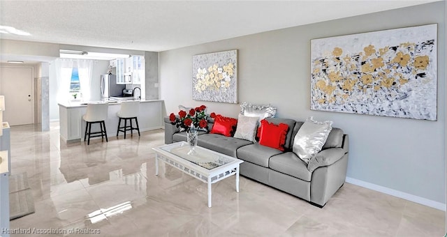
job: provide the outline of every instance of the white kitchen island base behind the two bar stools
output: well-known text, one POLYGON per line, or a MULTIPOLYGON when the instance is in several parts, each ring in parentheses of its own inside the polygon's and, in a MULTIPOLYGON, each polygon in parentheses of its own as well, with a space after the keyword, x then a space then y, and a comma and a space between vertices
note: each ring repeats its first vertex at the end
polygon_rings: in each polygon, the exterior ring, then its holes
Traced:
MULTIPOLYGON (((163 127, 162 105, 163 100, 145 100, 140 101, 140 112, 138 114, 138 125, 140 132, 155 130, 163 127)), ((108 100, 96 101, 108 102, 108 117, 105 120, 105 128, 108 137, 116 137, 118 128, 118 116, 122 101, 108 100)), ((68 101, 59 103, 59 127, 61 139, 65 142, 84 141, 85 121, 82 116, 87 112, 87 102, 68 101)), ((99 125, 92 126, 91 132, 99 131, 99 125)), ((120 136, 122 132, 120 133, 120 136)), ((138 135, 138 134, 137 134, 138 135)), ((97 139, 97 137, 96 137, 97 139)))

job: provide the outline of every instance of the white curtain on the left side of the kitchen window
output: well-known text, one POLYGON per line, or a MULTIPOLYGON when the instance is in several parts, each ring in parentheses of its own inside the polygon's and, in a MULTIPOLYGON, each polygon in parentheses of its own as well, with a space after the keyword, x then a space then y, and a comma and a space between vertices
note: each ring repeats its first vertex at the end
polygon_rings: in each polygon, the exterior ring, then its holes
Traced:
POLYGON ((57 102, 66 102, 70 99, 72 59, 56 59, 57 102))

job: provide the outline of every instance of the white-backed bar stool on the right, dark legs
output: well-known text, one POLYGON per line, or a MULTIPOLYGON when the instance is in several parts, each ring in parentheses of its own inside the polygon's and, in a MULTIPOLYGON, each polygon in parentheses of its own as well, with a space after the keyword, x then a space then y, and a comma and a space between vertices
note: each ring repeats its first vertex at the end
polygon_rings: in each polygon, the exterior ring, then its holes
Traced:
POLYGON ((140 109, 140 101, 126 101, 121 103, 121 108, 117 112, 119 117, 117 137, 119 132, 124 132, 124 139, 126 139, 126 131, 131 131, 133 135, 133 130, 138 131, 138 136, 140 136, 140 127, 138 126, 138 110, 140 109), (121 120, 124 119, 124 127, 121 127, 121 120), (136 127, 132 125, 132 119, 135 119, 136 127), (129 121, 129 125, 127 125, 129 121))

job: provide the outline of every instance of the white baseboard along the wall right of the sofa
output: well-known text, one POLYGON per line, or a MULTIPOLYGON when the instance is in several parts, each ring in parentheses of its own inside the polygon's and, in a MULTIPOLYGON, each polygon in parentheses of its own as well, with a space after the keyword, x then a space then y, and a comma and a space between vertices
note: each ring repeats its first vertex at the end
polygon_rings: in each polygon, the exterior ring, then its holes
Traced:
POLYGON ((368 183, 368 182, 360 181, 356 178, 350 178, 350 177, 346 177, 346 183, 352 183, 353 185, 358 185, 363 188, 367 188, 367 189, 374 190, 377 192, 383 192, 385 194, 389 194, 394 197, 400 197, 401 199, 413 201, 413 202, 416 202, 418 204, 422 204, 425 206, 430 206, 432 208, 436 208, 441 211, 446 211, 446 204, 443 204, 441 202, 433 201, 433 200, 426 199, 423 197, 418 197, 416 195, 409 194, 406 192, 400 192, 397 190, 393 190, 391 188, 383 187, 381 185, 376 185, 374 183, 368 183))

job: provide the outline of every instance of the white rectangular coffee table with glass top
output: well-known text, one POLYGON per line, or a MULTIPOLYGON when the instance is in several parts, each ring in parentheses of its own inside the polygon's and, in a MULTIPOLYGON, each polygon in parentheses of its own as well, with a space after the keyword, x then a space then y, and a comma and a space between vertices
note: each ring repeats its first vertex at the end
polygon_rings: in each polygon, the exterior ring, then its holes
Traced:
POLYGON ((196 146, 189 154, 186 142, 176 142, 152 148, 156 152, 155 174, 159 175, 159 160, 208 185, 208 207, 211 207, 211 184, 229 176, 236 176, 236 192, 239 192, 239 165, 244 162, 229 155, 196 146))

